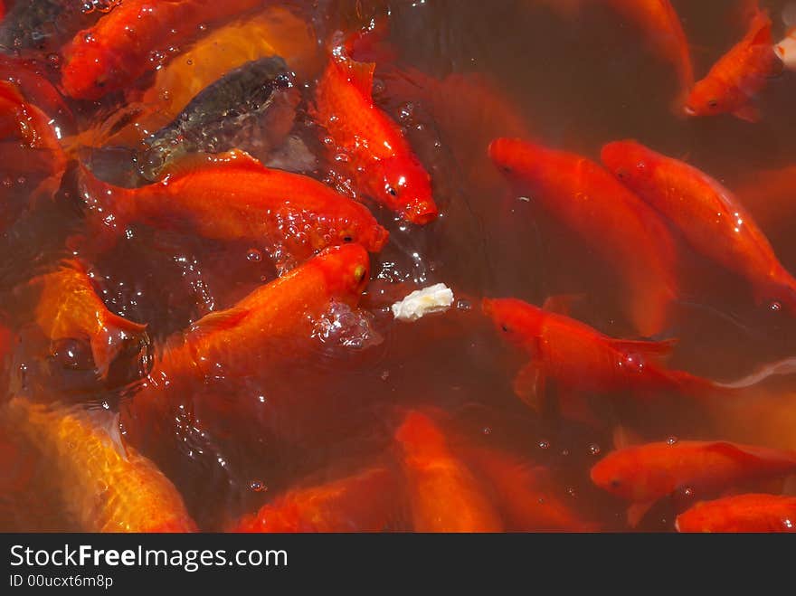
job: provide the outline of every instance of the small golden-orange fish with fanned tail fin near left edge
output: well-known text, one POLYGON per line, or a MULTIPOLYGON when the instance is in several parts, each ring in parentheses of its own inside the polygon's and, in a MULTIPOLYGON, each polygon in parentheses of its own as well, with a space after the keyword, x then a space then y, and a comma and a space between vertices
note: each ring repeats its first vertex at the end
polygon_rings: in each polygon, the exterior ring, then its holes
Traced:
POLYGON ((119 353, 140 340, 147 329, 110 312, 77 261, 64 263, 58 270, 33 279, 30 285, 40 291, 34 318, 50 339, 51 349, 64 339, 89 342, 102 378, 119 353))

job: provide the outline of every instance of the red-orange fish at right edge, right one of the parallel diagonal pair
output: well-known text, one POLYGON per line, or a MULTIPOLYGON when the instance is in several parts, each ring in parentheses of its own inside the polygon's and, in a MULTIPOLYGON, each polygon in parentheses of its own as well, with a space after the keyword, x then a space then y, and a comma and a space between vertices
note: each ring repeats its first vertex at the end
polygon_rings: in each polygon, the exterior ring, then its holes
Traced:
POLYGON ((746 279, 758 303, 782 302, 796 312, 796 279, 744 207, 715 179, 635 141, 602 147, 602 163, 697 252, 746 279))

